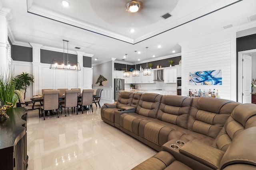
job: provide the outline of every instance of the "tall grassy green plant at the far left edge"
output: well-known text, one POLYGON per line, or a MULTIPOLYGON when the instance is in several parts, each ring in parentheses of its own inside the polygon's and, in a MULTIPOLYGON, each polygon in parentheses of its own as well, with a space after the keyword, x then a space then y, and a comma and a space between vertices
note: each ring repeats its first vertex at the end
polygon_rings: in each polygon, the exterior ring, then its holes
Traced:
POLYGON ((0 72, 0 98, 3 104, 10 102, 15 105, 18 101, 18 95, 14 93, 16 81, 13 75, 10 71, 1 70, 0 72))

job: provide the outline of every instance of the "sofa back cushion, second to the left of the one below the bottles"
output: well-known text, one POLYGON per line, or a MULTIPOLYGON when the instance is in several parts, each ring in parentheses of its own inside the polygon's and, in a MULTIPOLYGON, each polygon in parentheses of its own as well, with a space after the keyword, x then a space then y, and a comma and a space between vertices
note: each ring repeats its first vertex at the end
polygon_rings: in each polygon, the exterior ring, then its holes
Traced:
POLYGON ((136 113, 146 117, 156 118, 162 95, 156 93, 144 93, 136 108, 136 113))

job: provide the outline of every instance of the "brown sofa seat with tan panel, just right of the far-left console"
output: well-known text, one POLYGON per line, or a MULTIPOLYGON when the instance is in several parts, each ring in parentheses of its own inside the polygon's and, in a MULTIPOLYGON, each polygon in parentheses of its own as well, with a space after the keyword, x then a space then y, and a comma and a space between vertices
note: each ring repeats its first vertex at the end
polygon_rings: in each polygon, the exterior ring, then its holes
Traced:
POLYGON ((120 126, 136 135, 138 135, 138 126, 141 120, 152 119, 137 113, 123 113, 120 115, 120 126))

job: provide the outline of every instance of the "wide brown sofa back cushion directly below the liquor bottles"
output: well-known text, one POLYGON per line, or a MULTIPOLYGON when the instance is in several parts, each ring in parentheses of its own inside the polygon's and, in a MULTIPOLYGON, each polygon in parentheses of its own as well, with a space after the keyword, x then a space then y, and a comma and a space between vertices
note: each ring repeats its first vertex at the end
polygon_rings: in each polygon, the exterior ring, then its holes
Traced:
POLYGON ((194 98, 188 129, 216 138, 233 109, 240 103, 218 98, 194 98))

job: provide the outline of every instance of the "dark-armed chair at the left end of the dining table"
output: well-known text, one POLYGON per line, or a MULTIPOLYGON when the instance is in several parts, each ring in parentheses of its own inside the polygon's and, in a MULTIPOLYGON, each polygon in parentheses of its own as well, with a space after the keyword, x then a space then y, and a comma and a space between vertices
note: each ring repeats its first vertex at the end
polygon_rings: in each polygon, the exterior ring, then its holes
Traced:
POLYGON ((38 109, 39 117, 41 117, 41 114, 40 114, 41 106, 39 104, 35 105, 35 102, 33 101, 25 102, 24 94, 20 90, 14 90, 14 93, 16 93, 16 95, 19 97, 19 104, 21 107, 25 107, 25 109, 28 109, 28 110, 38 109))

